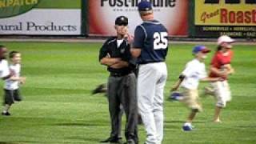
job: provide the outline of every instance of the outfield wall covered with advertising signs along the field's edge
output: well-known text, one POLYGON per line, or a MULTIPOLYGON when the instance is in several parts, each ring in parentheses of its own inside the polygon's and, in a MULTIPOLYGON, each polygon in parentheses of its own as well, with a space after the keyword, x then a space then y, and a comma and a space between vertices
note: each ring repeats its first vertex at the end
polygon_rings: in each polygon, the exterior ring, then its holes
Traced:
MULTIPOLYGON (((110 36, 114 19, 142 20, 140 0, 0 0, 0 35, 110 36)), ((256 38, 256 0, 150 0, 171 37, 256 38)))

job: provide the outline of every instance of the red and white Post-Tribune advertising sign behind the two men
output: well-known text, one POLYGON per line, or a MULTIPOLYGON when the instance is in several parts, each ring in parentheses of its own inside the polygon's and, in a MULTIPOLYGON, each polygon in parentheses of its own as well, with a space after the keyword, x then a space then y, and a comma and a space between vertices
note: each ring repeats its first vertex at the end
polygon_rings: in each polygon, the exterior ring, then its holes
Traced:
MULTIPOLYGON (((138 14, 141 0, 89 0, 89 34, 115 35, 114 20, 124 15, 129 19, 129 31, 142 23, 138 14)), ((188 34, 189 0, 149 0, 154 9, 154 18, 166 26, 169 35, 188 34)))

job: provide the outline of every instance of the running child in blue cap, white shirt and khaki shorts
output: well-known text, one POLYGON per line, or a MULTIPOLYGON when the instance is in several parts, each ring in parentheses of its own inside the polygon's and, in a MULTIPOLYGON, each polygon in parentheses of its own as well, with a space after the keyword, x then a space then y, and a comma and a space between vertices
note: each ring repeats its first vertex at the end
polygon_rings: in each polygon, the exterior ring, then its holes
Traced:
POLYGON ((182 87, 181 92, 184 97, 182 102, 191 109, 185 124, 182 126, 182 129, 185 131, 192 130, 193 126, 191 123, 197 112, 202 110, 201 104, 198 102, 199 82, 215 82, 219 80, 219 78, 207 77, 206 66, 203 61, 209 52, 210 50, 206 46, 195 46, 193 50, 195 58, 187 62, 185 70, 182 71, 178 82, 172 88, 172 90, 178 90, 179 86, 182 87))

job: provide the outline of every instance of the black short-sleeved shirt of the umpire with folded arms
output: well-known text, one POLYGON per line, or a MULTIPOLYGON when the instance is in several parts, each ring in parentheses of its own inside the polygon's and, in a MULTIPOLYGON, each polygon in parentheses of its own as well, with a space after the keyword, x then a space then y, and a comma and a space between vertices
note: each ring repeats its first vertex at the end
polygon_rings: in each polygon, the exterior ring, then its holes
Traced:
POLYGON ((121 69, 114 69, 108 66, 107 70, 110 71, 110 73, 130 74, 136 66, 136 60, 132 58, 130 54, 130 44, 126 41, 126 39, 124 39, 119 47, 117 37, 107 39, 100 50, 99 61, 102 58, 105 58, 107 55, 110 58, 121 58, 122 61, 129 63, 129 67, 123 67, 121 69))

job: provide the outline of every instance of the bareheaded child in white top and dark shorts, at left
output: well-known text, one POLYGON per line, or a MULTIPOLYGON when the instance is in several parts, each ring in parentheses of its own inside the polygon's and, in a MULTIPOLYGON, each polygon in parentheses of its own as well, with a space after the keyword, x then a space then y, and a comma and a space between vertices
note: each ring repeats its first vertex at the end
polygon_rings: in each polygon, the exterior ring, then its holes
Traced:
POLYGON ((21 95, 19 92, 19 84, 25 83, 26 78, 20 76, 21 72, 21 60, 22 60, 22 54, 20 54, 18 51, 11 51, 10 52, 10 78, 6 79, 4 90, 5 90, 5 99, 4 99, 4 109, 2 111, 2 115, 10 115, 9 110, 10 106, 14 103, 14 101, 21 101, 21 95))

